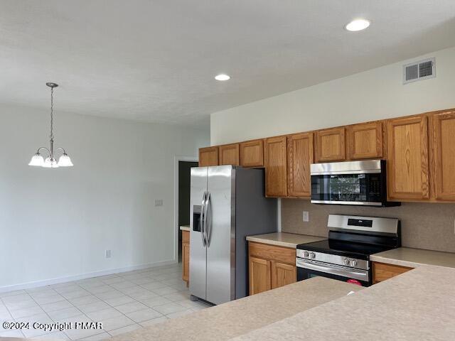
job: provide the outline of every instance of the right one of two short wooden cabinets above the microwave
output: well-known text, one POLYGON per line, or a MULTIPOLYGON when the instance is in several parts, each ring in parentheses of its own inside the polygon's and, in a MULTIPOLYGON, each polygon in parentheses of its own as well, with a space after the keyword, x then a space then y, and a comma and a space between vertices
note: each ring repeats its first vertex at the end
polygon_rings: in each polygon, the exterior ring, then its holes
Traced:
POLYGON ((348 158, 382 158, 382 122, 354 124, 347 127, 348 158))

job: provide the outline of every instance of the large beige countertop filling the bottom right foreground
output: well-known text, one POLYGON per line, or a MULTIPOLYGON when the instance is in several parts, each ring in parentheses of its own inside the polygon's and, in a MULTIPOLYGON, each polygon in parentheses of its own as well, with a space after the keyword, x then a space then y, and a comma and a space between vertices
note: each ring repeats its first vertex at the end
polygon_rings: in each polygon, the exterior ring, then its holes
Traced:
POLYGON ((420 266, 235 341, 454 340, 455 269, 420 266))

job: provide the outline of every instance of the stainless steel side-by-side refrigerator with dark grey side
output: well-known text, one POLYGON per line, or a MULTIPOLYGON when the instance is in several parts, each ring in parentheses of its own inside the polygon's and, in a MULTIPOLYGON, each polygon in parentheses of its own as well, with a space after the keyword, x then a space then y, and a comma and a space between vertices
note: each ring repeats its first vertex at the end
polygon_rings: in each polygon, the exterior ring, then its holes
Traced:
POLYGON ((264 170, 191 168, 190 226, 191 295, 213 304, 247 296, 245 237, 277 231, 277 200, 265 197, 264 170))

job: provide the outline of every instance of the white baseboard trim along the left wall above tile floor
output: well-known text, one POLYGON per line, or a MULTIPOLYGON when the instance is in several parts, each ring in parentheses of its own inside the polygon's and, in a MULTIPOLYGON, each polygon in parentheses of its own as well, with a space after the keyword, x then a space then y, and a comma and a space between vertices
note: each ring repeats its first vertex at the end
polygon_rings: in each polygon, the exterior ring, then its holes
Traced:
POLYGON ((156 268, 157 266, 172 265, 172 264, 177 264, 177 263, 178 263, 177 260, 158 261, 156 263, 150 263, 150 264, 126 266, 124 268, 95 271, 95 272, 90 272, 87 274, 50 278, 50 279, 45 279, 42 281, 33 281, 33 282, 26 282, 26 283, 21 283, 21 284, 13 284, 10 286, 1 286, 0 293, 5 293, 7 291, 16 291, 16 290, 37 288, 38 286, 50 286, 52 284, 65 283, 65 282, 70 282, 70 281, 79 281, 80 279, 85 279, 85 278, 90 278, 90 277, 105 276, 105 275, 111 275, 111 274, 118 274, 120 272, 156 268))

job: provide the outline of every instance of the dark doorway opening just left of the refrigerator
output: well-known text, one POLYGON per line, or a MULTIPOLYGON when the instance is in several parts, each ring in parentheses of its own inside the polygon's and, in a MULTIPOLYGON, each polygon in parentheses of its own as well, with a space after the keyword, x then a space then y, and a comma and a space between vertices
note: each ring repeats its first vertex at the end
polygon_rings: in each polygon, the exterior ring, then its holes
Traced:
POLYGON ((194 161, 178 161, 178 262, 182 261, 181 226, 190 225, 190 180, 191 167, 198 167, 194 161))

